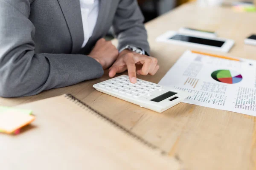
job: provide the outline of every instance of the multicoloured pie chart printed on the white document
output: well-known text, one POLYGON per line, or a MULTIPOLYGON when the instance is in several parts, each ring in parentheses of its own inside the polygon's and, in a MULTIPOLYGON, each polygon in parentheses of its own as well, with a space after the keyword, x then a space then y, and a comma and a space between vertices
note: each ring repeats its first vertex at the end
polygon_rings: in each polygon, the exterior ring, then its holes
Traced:
POLYGON ((243 77, 236 71, 230 70, 217 70, 212 73, 212 78, 218 82, 223 82, 227 84, 236 84, 241 82, 243 77))

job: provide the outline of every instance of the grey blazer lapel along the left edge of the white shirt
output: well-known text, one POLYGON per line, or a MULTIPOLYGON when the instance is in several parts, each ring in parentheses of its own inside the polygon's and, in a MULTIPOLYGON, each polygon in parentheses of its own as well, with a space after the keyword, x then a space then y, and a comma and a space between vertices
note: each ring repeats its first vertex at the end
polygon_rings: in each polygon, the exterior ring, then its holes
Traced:
MULTIPOLYGON (((103 0, 105 1, 105 0, 103 0)), ((80 51, 84 42, 84 31, 79 0, 58 0, 72 38, 72 54, 80 51)))

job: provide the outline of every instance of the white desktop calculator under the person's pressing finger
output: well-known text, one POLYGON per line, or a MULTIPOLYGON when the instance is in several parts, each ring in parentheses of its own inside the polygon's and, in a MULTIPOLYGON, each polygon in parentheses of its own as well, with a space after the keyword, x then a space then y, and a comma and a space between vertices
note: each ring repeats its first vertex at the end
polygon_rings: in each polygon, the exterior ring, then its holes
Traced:
POLYGON ((133 84, 126 75, 100 82, 93 87, 102 93, 159 113, 177 105, 189 96, 187 92, 177 91, 141 79, 137 79, 137 83, 133 84))

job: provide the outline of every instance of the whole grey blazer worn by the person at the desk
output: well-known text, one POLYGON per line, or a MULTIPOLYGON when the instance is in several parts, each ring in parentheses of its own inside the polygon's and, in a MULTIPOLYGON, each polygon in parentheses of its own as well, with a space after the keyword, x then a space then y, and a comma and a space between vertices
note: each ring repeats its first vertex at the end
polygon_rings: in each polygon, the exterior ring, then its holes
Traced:
POLYGON ((0 0, 0 96, 30 96, 103 74, 86 56, 113 26, 118 48, 131 44, 149 52, 137 0, 100 0, 99 17, 87 45, 79 0, 0 0))

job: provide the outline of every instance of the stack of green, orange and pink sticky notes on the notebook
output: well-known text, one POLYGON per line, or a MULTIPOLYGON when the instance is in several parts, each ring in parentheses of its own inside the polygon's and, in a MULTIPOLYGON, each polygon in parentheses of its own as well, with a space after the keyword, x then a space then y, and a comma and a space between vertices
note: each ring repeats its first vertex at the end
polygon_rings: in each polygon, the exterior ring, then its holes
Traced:
POLYGON ((20 128, 29 125, 35 120, 32 111, 0 107, 0 132, 18 134, 20 128))

